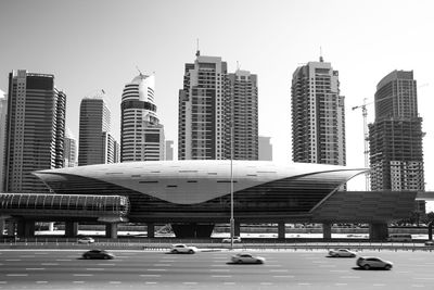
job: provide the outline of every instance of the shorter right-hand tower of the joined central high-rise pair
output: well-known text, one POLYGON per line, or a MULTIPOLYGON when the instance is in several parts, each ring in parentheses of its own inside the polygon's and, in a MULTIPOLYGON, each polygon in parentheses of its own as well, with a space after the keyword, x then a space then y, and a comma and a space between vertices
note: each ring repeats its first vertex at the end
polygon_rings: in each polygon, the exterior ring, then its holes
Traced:
MULTIPOLYGON (((228 75, 230 116, 233 122, 233 159, 258 160, 258 88, 257 76, 237 70, 228 75)), ((229 126, 230 137, 230 126, 229 126)), ((227 159, 230 159, 230 138, 227 138, 227 159)))

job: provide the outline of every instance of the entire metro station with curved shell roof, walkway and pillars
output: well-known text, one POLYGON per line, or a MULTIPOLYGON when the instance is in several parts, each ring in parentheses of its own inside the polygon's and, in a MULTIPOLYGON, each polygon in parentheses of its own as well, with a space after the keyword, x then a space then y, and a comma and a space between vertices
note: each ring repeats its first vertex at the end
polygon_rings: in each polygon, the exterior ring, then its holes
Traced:
MULTIPOLYGON (((227 224, 233 204, 234 235, 241 224, 322 224, 331 239, 335 223, 370 225, 371 240, 387 238, 387 224, 407 218, 427 192, 346 191, 345 184, 366 168, 265 161, 156 161, 99 164, 35 172, 51 193, 1 193, 1 218, 17 235, 35 235, 37 222, 65 222, 65 236, 78 224, 105 224, 116 238, 120 223, 170 224, 177 238, 209 238, 227 224), (423 194, 423 197, 422 197, 423 194)), ((3 224, 3 223, 2 223, 3 224)))

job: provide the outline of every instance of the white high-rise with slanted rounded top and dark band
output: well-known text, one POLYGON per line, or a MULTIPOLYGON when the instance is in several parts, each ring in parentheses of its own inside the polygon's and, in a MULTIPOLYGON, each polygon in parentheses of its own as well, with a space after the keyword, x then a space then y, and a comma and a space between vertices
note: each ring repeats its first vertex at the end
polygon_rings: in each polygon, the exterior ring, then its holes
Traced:
POLYGON ((122 162, 165 157, 164 126, 156 114, 154 89, 154 75, 140 74, 125 85, 122 97, 122 162))

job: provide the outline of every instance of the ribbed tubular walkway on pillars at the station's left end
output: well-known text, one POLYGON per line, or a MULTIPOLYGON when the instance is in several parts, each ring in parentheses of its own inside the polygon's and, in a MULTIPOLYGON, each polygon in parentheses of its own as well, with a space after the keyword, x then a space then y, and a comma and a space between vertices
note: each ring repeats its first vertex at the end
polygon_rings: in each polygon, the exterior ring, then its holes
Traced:
POLYGON ((78 222, 97 222, 105 224, 107 237, 116 238, 129 210, 123 196, 0 193, 0 235, 5 220, 8 232, 18 237, 34 236, 36 222, 65 222, 66 237, 77 236, 78 222))

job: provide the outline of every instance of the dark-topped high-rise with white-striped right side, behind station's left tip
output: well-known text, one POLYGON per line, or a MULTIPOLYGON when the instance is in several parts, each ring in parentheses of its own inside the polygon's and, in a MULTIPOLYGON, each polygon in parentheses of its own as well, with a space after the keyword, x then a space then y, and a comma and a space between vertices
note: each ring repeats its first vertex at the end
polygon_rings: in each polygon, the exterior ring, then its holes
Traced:
POLYGON ((9 75, 8 102, 5 191, 47 191, 31 172, 63 167, 66 96, 53 75, 18 70, 9 75))

